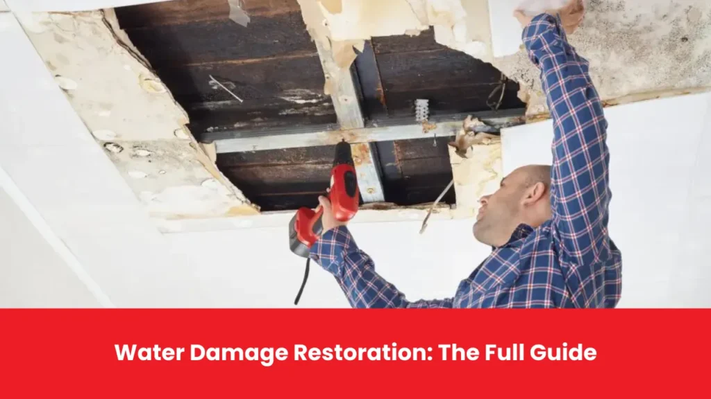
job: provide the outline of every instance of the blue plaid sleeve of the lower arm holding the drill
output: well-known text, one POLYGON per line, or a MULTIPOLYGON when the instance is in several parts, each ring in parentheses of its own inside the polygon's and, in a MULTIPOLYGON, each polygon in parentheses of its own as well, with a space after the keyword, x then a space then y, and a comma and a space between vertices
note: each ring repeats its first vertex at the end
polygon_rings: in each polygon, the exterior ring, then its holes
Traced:
POLYGON ((336 277, 351 307, 452 307, 453 299, 410 302, 375 273, 375 264, 358 248, 346 226, 326 231, 311 247, 311 259, 336 277))

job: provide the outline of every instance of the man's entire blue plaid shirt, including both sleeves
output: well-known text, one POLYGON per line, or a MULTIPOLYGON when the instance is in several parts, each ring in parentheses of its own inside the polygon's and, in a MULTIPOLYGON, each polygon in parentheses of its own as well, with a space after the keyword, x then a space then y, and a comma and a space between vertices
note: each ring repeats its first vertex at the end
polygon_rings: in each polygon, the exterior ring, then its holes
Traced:
POLYGON ((607 123, 588 62, 560 20, 541 14, 523 31, 553 119, 552 219, 522 224, 494 248, 454 297, 411 302, 375 272, 346 226, 326 231, 311 258, 332 273, 353 307, 615 307, 621 253, 608 236, 607 123))

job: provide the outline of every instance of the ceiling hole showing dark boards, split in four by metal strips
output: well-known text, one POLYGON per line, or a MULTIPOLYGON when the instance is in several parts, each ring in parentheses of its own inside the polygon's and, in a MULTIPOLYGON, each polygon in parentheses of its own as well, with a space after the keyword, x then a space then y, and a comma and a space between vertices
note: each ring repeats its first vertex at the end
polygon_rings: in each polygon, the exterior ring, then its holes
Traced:
MULTIPOLYGON (((188 112, 188 128, 198 141, 260 136, 269 129, 338 129, 298 2, 251 0, 245 12, 247 27, 230 20, 225 0, 116 9, 121 28, 188 112)), ((432 28, 418 36, 368 40, 351 72, 369 125, 415 123, 416 99, 429 100, 431 118, 491 111, 491 98, 501 99, 501 110, 525 107, 516 95, 518 84, 501 84, 501 72, 492 65, 439 45, 432 28), (502 88, 503 97, 496 92, 502 88)), ((452 178, 450 140, 439 137, 437 146, 432 138, 370 144, 385 202, 434 202, 452 178)), ((333 150, 218 153, 217 164, 262 211, 292 210, 316 206, 328 187, 333 150)), ((453 189, 442 202, 456 203, 453 189)))

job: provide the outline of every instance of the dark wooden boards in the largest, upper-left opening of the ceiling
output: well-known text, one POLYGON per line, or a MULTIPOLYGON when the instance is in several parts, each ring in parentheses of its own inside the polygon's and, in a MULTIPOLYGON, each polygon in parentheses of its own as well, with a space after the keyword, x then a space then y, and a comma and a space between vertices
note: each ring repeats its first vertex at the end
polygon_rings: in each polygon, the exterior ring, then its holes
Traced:
POLYGON ((122 7, 117 16, 188 111, 188 127, 198 140, 205 132, 240 126, 334 123, 319 55, 298 2, 246 0, 245 11, 246 27, 229 19, 227 0, 122 7))

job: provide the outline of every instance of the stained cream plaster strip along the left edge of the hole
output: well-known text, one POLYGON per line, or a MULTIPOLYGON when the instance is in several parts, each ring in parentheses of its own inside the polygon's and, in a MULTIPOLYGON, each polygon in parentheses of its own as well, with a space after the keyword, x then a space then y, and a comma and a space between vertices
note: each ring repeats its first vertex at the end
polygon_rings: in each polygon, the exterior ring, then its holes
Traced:
MULTIPOLYGON (((108 19, 107 19, 108 18, 108 19)), ((153 217, 257 214, 186 128, 188 116, 111 21, 33 13, 28 37, 55 84, 153 217)))

